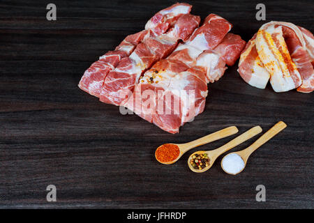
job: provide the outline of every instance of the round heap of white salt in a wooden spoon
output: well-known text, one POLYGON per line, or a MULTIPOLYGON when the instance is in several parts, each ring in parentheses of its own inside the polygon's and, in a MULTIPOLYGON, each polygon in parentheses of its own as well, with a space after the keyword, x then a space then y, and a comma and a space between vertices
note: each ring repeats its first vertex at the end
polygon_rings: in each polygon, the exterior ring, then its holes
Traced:
POLYGON ((238 174, 242 169, 244 169, 244 161, 242 160, 241 156, 230 153, 223 158, 223 169, 228 174, 238 174))

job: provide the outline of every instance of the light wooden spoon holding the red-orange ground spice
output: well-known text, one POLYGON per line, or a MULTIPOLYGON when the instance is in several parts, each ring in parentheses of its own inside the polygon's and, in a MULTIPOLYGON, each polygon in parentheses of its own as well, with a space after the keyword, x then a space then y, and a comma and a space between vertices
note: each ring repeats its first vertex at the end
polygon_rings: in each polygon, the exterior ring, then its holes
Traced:
MULTIPOLYGON (((204 137, 202 137, 200 139, 196 139, 194 141, 190 141, 190 142, 188 142, 186 144, 173 144, 173 145, 177 145, 179 147, 180 153, 179 153, 179 156, 177 157, 177 159, 175 159, 175 160, 173 160, 171 162, 161 162, 160 160, 157 159, 156 152, 155 152, 155 157, 156 157, 156 160, 158 160, 158 162, 160 162, 162 164, 172 164, 174 162, 177 162, 180 159, 180 157, 182 155, 184 155, 184 153, 189 151, 191 148, 195 148, 197 146, 202 146, 204 144, 208 144, 211 141, 216 141, 218 139, 222 139, 222 138, 228 137, 228 136, 230 136, 232 134, 236 134, 237 132, 239 132, 237 127, 230 126, 228 128, 224 128, 223 130, 219 130, 217 132, 214 132, 214 133, 211 133, 211 134, 207 134, 207 136, 204 136, 204 137)), ((160 146, 158 148, 160 148, 160 146)), ((156 151, 158 150, 158 148, 156 149, 156 151)))

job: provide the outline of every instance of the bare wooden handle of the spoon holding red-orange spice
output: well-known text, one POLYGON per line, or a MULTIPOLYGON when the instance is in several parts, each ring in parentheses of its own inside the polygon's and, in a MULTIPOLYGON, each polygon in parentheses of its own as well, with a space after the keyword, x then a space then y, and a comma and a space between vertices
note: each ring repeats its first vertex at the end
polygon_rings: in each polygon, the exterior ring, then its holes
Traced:
POLYGON ((207 136, 204 136, 200 139, 196 139, 194 141, 190 141, 186 144, 181 144, 182 146, 182 152, 185 153, 186 151, 190 150, 191 148, 195 148, 197 146, 202 146, 204 144, 208 144, 211 141, 216 141, 218 139, 222 139, 224 137, 228 137, 232 134, 236 134, 239 132, 237 127, 230 126, 228 128, 224 128, 223 130, 219 130, 217 132, 207 134, 207 136))

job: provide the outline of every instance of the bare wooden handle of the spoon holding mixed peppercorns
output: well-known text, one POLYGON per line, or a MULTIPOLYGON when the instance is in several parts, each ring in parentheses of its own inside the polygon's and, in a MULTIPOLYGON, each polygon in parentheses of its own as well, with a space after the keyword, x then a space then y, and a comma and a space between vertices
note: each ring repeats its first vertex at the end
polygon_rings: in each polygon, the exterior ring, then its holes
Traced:
POLYGON ((226 151, 229 151, 231 148, 234 148, 235 146, 238 146, 239 144, 243 143, 244 141, 251 139, 255 135, 262 132, 262 128, 260 128, 259 125, 251 128, 250 130, 244 132, 243 134, 240 134, 239 137, 232 139, 227 144, 216 148, 214 151, 211 151, 211 153, 214 153, 214 157, 218 157, 219 155, 225 153, 226 151))

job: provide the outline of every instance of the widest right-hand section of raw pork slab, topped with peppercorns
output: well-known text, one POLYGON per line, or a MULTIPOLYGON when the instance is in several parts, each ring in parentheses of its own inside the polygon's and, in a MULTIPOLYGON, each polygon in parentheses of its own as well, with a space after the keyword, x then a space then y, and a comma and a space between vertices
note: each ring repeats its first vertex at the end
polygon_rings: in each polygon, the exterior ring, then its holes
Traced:
POLYGON ((224 72, 225 64, 232 65, 246 44, 227 33, 231 27, 222 17, 209 15, 186 43, 144 73, 124 106, 162 130, 179 132, 204 111, 207 84, 216 79, 212 65, 222 63, 224 72))

